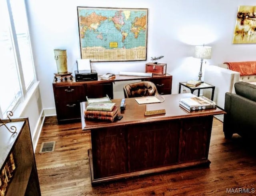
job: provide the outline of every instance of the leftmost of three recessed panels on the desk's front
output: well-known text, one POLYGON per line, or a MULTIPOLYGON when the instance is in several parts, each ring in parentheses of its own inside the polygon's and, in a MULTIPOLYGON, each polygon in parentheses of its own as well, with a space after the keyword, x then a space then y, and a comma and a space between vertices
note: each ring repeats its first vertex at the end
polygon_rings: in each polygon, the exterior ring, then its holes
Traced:
POLYGON ((91 138, 95 178, 129 171, 126 128, 101 128, 92 131, 91 138))

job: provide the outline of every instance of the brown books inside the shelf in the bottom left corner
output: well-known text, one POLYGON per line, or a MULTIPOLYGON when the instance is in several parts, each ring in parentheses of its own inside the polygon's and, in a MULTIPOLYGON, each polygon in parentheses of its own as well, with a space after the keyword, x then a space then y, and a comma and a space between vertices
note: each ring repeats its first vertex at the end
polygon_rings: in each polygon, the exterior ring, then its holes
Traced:
POLYGON ((0 172, 0 195, 5 195, 8 188, 8 183, 10 182, 16 166, 14 163, 13 154, 11 153, 9 158, 7 158, 6 164, 2 171, 0 172))

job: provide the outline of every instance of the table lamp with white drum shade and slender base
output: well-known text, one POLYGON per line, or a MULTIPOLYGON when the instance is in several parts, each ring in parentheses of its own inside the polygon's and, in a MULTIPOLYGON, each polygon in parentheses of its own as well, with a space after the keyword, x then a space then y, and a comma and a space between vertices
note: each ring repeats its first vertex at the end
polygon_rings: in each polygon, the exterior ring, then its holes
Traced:
POLYGON ((201 65, 200 65, 200 71, 198 74, 198 81, 200 81, 201 83, 203 83, 203 81, 201 80, 202 77, 202 64, 203 64, 203 60, 204 59, 210 59, 211 58, 211 53, 212 53, 212 47, 210 46, 196 46, 195 47, 195 54, 194 54, 194 58, 200 58, 201 59, 201 65))

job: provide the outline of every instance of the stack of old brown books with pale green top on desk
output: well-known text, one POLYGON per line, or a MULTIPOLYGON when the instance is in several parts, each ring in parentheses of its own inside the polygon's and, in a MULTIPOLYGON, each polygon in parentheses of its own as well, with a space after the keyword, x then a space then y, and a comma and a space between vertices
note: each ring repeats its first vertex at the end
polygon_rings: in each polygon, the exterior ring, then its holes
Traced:
POLYGON ((113 122, 118 115, 118 106, 115 103, 92 102, 84 111, 84 118, 90 120, 105 120, 113 122))

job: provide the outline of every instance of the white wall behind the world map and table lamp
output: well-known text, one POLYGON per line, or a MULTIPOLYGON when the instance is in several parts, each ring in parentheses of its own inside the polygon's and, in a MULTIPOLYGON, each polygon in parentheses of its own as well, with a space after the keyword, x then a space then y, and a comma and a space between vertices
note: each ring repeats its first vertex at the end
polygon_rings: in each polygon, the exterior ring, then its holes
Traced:
POLYGON ((76 69, 80 58, 77 6, 148 8, 148 50, 146 61, 98 62, 92 68, 106 72, 144 72, 151 56, 163 55, 167 72, 173 75, 172 93, 178 82, 197 79, 200 60, 192 58, 195 45, 212 46, 207 64, 256 60, 255 44, 232 44, 236 14, 240 5, 252 0, 27 0, 34 59, 44 109, 55 108, 52 90, 57 72, 54 49, 64 48, 68 71, 76 69))

